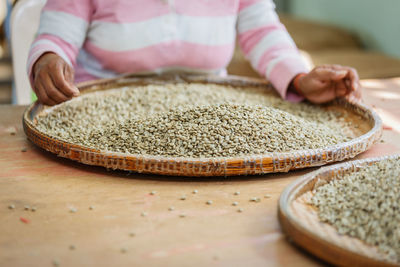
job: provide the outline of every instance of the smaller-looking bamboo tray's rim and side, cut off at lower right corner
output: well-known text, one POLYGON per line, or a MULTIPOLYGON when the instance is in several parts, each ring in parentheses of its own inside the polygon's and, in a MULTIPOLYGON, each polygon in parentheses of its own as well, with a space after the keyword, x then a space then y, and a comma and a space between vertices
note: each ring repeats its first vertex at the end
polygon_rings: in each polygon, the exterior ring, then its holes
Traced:
POLYGON ((279 221, 283 231, 297 245, 329 263, 340 266, 399 266, 391 262, 376 247, 357 238, 339 235, 333 226, 318 220, 315 207, 308 203, 312 190, 335 179, 335 175, 355 172, 374 162, 396 158, 354 160, 311 172, 290 184, 279 200, 279 221))

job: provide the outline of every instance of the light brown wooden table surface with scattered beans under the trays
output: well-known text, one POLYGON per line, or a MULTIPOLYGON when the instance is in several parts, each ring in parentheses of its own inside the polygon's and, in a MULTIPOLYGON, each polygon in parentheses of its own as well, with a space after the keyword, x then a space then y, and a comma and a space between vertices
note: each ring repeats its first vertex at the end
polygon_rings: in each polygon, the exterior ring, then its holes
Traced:
MULTIPOLYGON (((385 130, 358 158, 400 152, 400 78, 362 84, 385 130)), ((22 130, 24 109, 0 106, 0 266, 324 264, 289 243, 277 220, 282 190, 313 169, 202 179, 107 171, 35 147, 22 130)))

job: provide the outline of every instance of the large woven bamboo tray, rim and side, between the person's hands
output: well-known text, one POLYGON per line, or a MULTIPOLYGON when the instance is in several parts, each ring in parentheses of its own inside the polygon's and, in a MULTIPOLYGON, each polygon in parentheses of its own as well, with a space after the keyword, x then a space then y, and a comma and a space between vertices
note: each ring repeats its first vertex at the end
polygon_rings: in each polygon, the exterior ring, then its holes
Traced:
MULTIPOLYGON (((263 87, 273 90, 268 82, 261 79, 238 76, 124 76, 116 79, 104 79, 78 85, 82 94, 106 91, 127 85, 147 85, 166 83, 206 83, 234 87, 263 87)), ((274 172, 287 172, 293 169, 320 166, 330 162, 353 158, 369 149, 382 134, 382 122, 379 116, 361 103, 352 103, 340 99, 327 106, 346 113, 349 120, 358 125, 355 138, 349 142, 323 149, 298 150, 287 153, 267 153, 246 157, 231 158, 167 158, 143 156, 97 149, 68 143, 51 137, 35 127, 35 117, 49 107, 38 102, 29 106, 23 115, 23 126, 29 140, 39 147, 60 157, 69 158, 84 164, 104 166, 139 173, 179 176, 232 176, 274 172)))

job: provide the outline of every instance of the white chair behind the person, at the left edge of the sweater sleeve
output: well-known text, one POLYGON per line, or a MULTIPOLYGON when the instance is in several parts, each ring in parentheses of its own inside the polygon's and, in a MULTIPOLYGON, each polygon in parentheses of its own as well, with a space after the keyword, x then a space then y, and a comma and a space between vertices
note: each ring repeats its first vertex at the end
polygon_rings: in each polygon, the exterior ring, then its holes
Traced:
POLYGON ((14 71, 13 104, 32 102, 32 89, 26 74, 29 48, 39 27, 40 11, 46 0, 19 0, 11 13, 11 55, 14 71))

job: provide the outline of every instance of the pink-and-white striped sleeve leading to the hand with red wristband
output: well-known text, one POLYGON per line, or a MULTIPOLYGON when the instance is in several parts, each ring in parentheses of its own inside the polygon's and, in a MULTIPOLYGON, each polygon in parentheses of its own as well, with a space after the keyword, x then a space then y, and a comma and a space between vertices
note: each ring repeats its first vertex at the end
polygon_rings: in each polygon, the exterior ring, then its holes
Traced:
POLYGON ((287 89, 297 74, 309 68, 279 21, 272 0, 242 0, 237 30, 239 45, 253 68, 271 81, 282 98, 301 100, 287 89))

